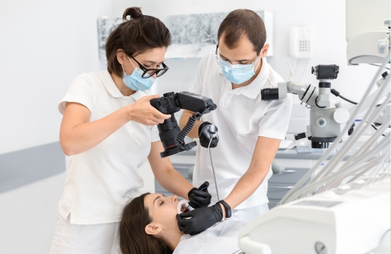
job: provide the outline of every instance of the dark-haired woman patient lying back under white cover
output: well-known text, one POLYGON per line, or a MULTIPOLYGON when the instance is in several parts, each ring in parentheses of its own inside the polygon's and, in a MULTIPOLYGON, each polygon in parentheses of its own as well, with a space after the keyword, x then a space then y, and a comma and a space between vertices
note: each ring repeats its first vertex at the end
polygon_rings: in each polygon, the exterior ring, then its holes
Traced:
POLYGON ((143 194, 125 206, 120 223, 122 254, 233 253, 244 221, 225 220, 206 231, 184 235, 176 219, 177 196, 143 194))

